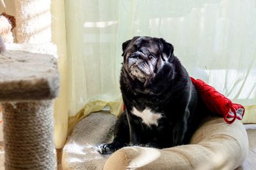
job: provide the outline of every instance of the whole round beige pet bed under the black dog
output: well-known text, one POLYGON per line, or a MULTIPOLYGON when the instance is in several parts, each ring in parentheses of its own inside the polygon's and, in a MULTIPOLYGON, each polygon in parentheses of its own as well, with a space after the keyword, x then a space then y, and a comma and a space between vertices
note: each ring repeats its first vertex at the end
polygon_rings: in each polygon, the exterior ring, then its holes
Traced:
POLYGON ((63 148, 63 169, 235 169, 248 153, 241 121, 227 124, 221 117, 209 117, 190 145, 163 150, 133 146, 101 155, 97 145, 112 141, 115 122, 109 113, 92 113, 78 122, 63 148))

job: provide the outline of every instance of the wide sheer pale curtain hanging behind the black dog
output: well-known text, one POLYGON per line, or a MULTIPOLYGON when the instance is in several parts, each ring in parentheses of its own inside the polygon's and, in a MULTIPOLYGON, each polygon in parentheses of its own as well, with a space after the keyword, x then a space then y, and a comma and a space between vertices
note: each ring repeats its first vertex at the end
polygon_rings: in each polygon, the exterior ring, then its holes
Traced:
POLYGON ((65 6, 70 116, 92 101, 120 101, 122 42, 133 36, 166 39, 191 76, 255 108, 255 0, 66 0, 65 6))

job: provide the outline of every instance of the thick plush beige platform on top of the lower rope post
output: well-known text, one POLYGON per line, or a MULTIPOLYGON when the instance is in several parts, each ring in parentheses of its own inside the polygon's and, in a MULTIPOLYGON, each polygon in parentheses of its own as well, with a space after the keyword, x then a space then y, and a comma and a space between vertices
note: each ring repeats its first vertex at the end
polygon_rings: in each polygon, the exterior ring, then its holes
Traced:
POLYGON ((53 99, 59 81, 52 55, 15 50, 0 54, 0 101, 53 99))

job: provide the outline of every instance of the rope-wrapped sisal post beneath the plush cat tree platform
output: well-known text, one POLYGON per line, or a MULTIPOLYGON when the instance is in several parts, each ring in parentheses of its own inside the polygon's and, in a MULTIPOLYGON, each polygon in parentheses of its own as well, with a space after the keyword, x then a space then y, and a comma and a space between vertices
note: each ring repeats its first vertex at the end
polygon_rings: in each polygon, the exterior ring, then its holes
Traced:
POLYGON ((52 101, 3 104, 5 169, 54 169, 52 101))

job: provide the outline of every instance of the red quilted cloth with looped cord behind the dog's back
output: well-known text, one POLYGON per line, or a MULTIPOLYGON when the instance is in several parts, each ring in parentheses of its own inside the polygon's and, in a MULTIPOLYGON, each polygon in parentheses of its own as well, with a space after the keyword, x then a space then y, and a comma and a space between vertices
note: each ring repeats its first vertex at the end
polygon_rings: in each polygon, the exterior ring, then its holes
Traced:
MULTIPOLYGON (((191 81, 198 94, 202 97, 205 105, 212 111, 212 113, 222 115, 228 124, 232 124, 236 118, 238 120, 242 120, 244 115, 244 106, 232 103, 230 99, 225 97, 223 94, 220 94, 220 92, 217 92, 216 89, 207 85, 207 83, 200 79, 195 80, 191 77, 191 81)), ((123 109, 125 110, 125 106, 123 109)))

